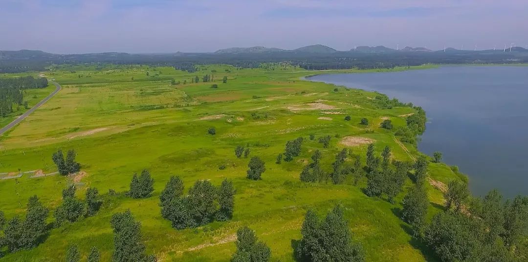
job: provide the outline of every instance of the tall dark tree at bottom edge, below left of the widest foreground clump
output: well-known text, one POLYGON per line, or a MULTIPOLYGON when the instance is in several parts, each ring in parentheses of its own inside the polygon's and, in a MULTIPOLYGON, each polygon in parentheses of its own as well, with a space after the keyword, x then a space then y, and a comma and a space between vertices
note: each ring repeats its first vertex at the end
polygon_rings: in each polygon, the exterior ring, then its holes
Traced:
POLYGON ((110 220, 114 230, 114 262, 154 262, 156 257, 145 254, 141 242, 141 223, 136 222, 130 210, 116 213, 110 220))

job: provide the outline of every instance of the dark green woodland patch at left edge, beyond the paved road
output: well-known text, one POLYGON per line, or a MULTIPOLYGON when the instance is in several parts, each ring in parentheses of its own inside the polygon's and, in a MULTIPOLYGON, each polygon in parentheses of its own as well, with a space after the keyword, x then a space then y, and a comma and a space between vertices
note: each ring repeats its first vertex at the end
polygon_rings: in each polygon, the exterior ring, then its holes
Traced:
POLYGON ((13 104, 24 104, 27 107, 22 90, 44 88, 46 86, 48 86, 48 79, 45 79, 45 77, 0 78, 0 117, 5 118, 12 113, 13 104))

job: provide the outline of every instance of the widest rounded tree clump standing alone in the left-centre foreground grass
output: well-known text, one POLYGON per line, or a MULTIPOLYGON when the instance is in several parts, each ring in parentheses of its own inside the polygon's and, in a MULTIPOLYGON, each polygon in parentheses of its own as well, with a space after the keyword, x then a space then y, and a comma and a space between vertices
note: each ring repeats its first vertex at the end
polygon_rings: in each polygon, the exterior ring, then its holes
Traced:
POLYGON ((236 190, 231 181, 222 181, 218 189, 208 180, 196 181, 187 196, 183 189, 182 180, 171 177, 159 195, 162 216, 171 220, 174 228, 195 228, 233 217, 236 190))

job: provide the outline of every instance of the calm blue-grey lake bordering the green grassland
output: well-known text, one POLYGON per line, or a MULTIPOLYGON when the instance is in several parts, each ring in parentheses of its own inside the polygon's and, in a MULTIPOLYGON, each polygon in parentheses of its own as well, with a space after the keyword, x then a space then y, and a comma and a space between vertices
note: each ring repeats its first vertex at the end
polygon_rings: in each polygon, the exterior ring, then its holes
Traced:
POLYGON ((528 195, 528 66, 441 66, 385 73, 324 74, 311 81, 378 91, 422 106, 420 151, 469 176, 474 195, 493 188, 528 195))

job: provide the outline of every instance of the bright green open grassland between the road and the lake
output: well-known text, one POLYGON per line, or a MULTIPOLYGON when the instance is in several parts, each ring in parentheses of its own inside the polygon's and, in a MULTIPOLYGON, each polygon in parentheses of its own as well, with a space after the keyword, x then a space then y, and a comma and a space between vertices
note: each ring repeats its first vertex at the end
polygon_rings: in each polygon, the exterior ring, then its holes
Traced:
MULTIPOLYGON (((362 242, 367 261, 435 261, 398 218, 405 192, 391 205, 365 196, 365 181, 357 187, 351 181, 344 185, 299 181, 304 163, 316 149, 323 152, 323 167, 331 170, 335 154, 345 147, 340 143, 344 137, 375 140, 378 153, 390 145, 395 159, 418 156, 413 145, 400 144, 393 133, 379 128, 382 118, 391 119, 395 127, 405 125, 400 116, 412 113, 411 108, 379 109, 374 93, 344 88, 334 92, 334 85, 300 80, 314 71, 290 66, 206 65, 192 74, 169 67, 61 66, 45 74, 61 83, 63 90, 0 140, 0 173, 54 172, 52 152, 75 149, 87 172, 77 182, 78 196, 83 198, 87 187, 96 187, 105 193, 105 202, 96 216, 52 229, 39 247, 8 254, 0 261, 62 261, 70 244, 78 244, 83 256, 97 246, 102 261, 108 261, 113 249, 110 217, 126 209, 142 222, 147 251, 160 261, 229 261, 235 249, 234 233, 243 225, 256 230, 270 246, 274 261, 293 261, 292 245, 300 238, 306 210, 315 208, 322 215, 336 203, 345 207, 348 225, 362 242), (191 83, 192 77, 204 74, 213 74, 219 88, 191 83), (223 76, 228 77, 225 84, 223 76), (172 79, 182 84, 171 85, 172 79), (345 115, 352 120, 345 121, 345 115), (360 125, 361 118, 369 119, 370 125, 360 125), (207 133, 210 127, 216 128, 216 135, 207 133), (331 146, 323 149, 322 144, 306 139, 300 157, 275 164, 287 140, 309 134, 332 135, 331 146), (234 156, 237 145, 249 145, 251 156, 266 162, 261 181, 246 179, 249 159, 234 156), (219 170, 222 164, 227 168, 219 170), (155 179, 152 198, 134 200, 106 193, 126 191, 132 174, 144 168, 155 179), (210 179, 214 185, 231 179, 237 189, 233 219, 196 229, 173 229, 158 207, 159 192, 172 175, 181 176, 186 189, 199 179, 210 179)), ((364 159, 366 144, 349 148, 364 159)), ((429 174, 441 182, 457 178, 442 163, 431 163, 429 174)), ((71 181, 57 175, 0 180, 0 210, 7 218, 23 215, 31 195, 54 209, 62 188, 71 181)), ((410 185, 409 180, 406 188, 410 185)), ((428 187, 432 217, 443 199, 440 191, 428 187)))

